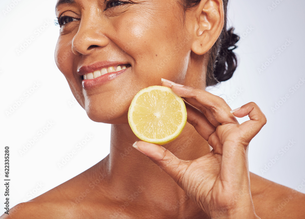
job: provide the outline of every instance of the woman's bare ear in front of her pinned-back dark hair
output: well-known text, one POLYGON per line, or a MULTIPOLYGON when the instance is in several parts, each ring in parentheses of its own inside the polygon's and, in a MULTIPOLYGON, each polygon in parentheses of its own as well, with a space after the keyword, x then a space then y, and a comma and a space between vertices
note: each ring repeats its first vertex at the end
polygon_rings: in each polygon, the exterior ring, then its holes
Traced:
MULTIPOLYGON (((222 0, 201 0, 196 9, 190 11, 193 35, 192 51, 202 55, 210 50, 224 27, 224 5, 222 0)), ((190 17, 190 16, 186 16, 190 17)))

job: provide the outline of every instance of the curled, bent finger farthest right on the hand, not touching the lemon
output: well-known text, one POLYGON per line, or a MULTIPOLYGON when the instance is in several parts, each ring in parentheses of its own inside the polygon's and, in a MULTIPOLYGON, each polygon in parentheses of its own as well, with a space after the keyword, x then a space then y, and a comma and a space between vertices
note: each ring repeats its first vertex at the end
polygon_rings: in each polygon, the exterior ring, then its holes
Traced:
POLYGON ((236 110, 232 110, 232 114, 239 118, 249 115, 250 120, 239 125, 242 130, 246 131, 244 139, 248 143, 267 122, 266 116, 254 102, 247 103, 236 110))

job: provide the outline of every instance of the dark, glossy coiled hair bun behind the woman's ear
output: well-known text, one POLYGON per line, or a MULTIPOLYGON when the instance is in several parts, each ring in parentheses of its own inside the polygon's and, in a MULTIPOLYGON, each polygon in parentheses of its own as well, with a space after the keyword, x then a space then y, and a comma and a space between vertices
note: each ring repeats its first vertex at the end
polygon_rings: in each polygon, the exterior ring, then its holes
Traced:
POLYGON ((218 82, 229 80, 237 67, 237 58, 233 50, 237 48, 235 43, 239 41, 239 36, 233 31, 234 27, 225 30, 219 42, 220 45, 213 67, 214 77, 218 82))

